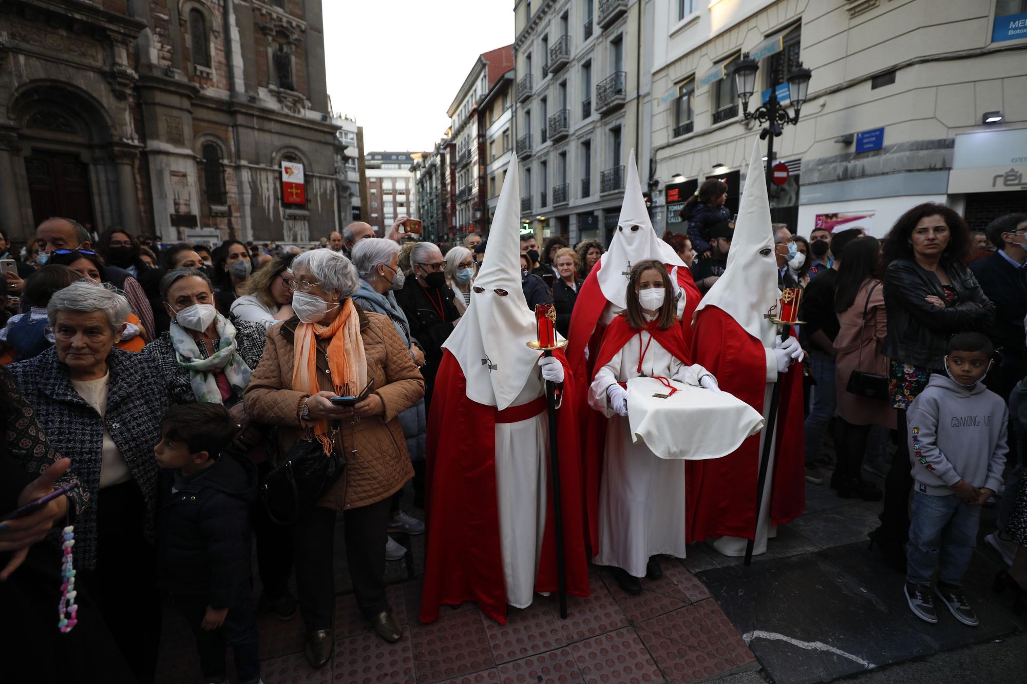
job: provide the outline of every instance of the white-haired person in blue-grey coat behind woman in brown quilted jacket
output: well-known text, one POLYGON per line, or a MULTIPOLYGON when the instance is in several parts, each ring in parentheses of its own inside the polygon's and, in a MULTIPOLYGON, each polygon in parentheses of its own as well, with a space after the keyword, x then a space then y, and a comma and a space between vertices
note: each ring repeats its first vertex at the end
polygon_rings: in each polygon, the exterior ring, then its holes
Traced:
MULTIPOLYGON (((353 266, 360 276, 360 287, 353 294, 353 303, 365 311, 374 311, 388 316, 396 335, 410 349, 410 356, 420 368, 424 365, 424 352, 417 346, 417 340, 410 335, 410 324, 395 301, 393 290, 403 287, 406 275, 400 270, 400 245, 394 240, 381 237, 365 237, 356 243, 352 252, 353 266)), ((414 504, 424 507, 424 456, 427 450, 427 419, 424 400, 400 414, 403 433, 407 438, 407 452, 414 464, 414 504)), ((423 534, 424 523, 400 508, 401 492, 392 498, 392 520, 389 529, 407 534, 423 534)), ((406 549, 390 537, 385 546, 385 558, 397 561, 406 549)))

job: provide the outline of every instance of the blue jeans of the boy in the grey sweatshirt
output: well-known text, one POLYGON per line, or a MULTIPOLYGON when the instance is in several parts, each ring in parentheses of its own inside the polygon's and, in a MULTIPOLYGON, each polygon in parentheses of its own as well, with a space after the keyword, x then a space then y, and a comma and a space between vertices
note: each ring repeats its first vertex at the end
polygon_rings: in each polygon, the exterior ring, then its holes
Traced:
MULTIPOLYGON (((915 483, 914 483, 915 485, 915 483)), ((909 542, 906 544, 906 579, 930 584, 938 581, 962 586, 981 525, 981 506, 961 502, 954 494, 931 496, 913 492, 909 542)))

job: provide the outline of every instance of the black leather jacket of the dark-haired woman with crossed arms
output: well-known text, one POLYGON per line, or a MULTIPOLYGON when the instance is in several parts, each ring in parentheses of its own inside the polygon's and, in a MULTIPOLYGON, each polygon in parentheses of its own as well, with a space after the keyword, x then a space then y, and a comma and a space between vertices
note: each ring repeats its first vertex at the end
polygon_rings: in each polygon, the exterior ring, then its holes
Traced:
POLYGON ((956 333, 982 332, 994 320, 992 304, 977 278, 959 263, 943 263, 959 295, 959 303, 944 309, 928 304, 928 296, 945 301, 938 276, 912 259, 896 259, 884 271, 884 310, 888 335, 884 353, 891 360, 941 371, 948 340, 956 333))

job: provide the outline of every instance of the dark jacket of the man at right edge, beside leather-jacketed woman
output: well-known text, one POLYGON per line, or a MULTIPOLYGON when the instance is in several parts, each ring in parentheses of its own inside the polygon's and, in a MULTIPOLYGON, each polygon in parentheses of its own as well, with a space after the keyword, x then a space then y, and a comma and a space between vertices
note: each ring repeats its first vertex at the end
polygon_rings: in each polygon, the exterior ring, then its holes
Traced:
POLYGON ((985 332, 1005 355, 1022 358, 1027 353, 1024 349, 1027 272, 1016 268, 997 252, 978 259, 969 269, 984 294, 995 303, 995 321, 985 332))

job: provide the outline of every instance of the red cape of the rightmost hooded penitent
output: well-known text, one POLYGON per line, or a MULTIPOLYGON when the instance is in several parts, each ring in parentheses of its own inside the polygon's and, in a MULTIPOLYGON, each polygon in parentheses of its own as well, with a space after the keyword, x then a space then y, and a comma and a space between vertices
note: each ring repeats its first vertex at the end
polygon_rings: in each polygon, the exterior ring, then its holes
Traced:
MULTIPOLYGON (((766 354, 763 344, 723 310, 708 306, 695 319, 695 363, 713 373, 720 388, 763 413, 766 354)), ((781 382, 777 445, 770 495, 770 523, 795 520, 805 509, 802 436, 802 365, 794 364, 781 382)), ((760 434, 723 458, 686 462, 688 542, 730 535, 756 535, 756 480, 760 434)))

